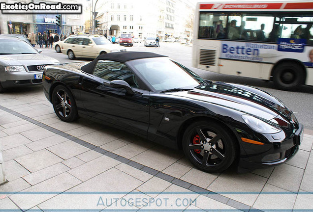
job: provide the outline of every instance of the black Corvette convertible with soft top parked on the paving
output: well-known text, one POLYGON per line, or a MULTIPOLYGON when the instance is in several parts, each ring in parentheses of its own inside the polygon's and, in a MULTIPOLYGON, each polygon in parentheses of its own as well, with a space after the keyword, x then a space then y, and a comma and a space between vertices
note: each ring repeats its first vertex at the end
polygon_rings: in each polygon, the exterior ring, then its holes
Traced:
POLYGON ((79 116, 171 148, 207 172, 278 165, 298 151, 303 126, 280 100, 250 86, 202 79, 167 56, 120 52, 47 66, 57 116, 79 116))

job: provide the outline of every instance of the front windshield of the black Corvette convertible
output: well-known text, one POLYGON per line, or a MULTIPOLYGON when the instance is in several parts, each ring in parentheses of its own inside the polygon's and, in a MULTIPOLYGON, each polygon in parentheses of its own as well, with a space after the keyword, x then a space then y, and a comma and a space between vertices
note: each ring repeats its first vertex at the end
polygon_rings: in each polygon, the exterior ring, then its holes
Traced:
POLYGON ((128 64, 156 91, 193 89, 206 84, 204 79, 168 57, 131 60, 128 64))

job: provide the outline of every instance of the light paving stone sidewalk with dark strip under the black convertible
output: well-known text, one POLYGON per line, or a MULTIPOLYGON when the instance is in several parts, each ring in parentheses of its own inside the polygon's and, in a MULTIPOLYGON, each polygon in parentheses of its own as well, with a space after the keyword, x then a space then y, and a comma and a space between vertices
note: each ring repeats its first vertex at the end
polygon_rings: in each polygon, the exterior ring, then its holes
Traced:
POLYGON ((64 123, 42 88, 0 94, 7 183, 0 212, 313 211, 313 133, 281 166, 208 174, 181 151, 85 119, 64 123))

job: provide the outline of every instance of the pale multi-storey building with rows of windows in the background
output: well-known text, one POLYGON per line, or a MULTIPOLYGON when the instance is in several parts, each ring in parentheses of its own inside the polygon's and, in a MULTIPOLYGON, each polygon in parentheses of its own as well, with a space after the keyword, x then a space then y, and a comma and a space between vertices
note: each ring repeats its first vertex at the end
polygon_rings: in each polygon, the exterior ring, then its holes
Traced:
MULTIPOLYGON (((161 40, 184 38, 191 36, 192 29, 186 28, 186 20, 194 7, 191 0, 101 0, 95 6, 99 21, 95 33, 114 36, 130 33, 140 38, 158 35, 161 40)), ((90 32, 87 24, 86 32, 90 32)))

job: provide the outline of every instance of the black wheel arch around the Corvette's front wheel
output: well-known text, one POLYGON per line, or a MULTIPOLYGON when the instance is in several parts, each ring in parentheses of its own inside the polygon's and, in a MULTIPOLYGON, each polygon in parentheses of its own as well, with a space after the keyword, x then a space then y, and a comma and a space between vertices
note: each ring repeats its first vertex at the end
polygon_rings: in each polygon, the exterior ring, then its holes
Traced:
POLYGON ((179 149, 182 149, 182 143, 183 143, 183 135, 184 132, 186 131, 186 129, 188 128, 189 125, 191 125, 194 122, 198 122, 198 121, 208 121, 208 122, 215 122, 217 124, 219 124, 220 126, 224 127, 224 129, 229 132, 229 134, 231 135, 231 137, 234 138, 235 142, 236 142, 236 146, 238 149, 238 155, 240 155, 240 144, 238 141, 238 135, 236 135, 235 132, 233 132, 228 125, 226 125, 225 123, 221 122, 220 120, 218 120, 217 118, 214 117, 207 117, 207 116, 196 116, 196 117, 191 117, 188 120, 186 120, 181 127, 178 130, 177 133, 177 146, 179 149))

